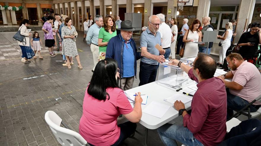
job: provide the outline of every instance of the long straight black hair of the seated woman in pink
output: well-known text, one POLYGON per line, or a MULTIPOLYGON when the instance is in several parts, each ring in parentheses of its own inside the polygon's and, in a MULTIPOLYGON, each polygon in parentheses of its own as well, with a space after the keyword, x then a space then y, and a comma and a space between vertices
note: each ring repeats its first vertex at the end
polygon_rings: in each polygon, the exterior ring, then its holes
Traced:
POLYGON ((87 93, 95 99, 106 101, 110 95, 106 92, 107 88, 119 88, 116 82, 116 72, 118 63, 112 58, 105 58, 97 63, 91 78, 87 93))

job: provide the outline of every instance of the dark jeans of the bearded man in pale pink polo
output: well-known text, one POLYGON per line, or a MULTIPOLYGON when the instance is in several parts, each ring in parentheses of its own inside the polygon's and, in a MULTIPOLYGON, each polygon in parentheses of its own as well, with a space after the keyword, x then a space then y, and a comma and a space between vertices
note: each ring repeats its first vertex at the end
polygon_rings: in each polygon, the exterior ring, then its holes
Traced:
MULTIPOLYGON (((248 101, 245 99, 242 99, 239 96, 233 95, 229 92, 229 89, 226 89, 227 91, 227 119, 233 116, 233 110, 240 110, 243 107, 245 107, 247 104, 249 104, 248 101)), ((250 106, 250 112, 256 112, 257 109, 260 107, 260 105, 251 105, 250 106)))

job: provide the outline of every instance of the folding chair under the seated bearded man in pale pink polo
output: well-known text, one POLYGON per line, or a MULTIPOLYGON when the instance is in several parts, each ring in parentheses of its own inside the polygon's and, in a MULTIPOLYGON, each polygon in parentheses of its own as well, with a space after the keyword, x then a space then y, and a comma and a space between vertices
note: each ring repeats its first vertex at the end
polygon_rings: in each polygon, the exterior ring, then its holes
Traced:
POLYGON ((232 119, 233 117, 238 117, 239 115, 243 114, 245 116, 248 117, 248 119, 250 118, 255 118, 258 117, 261 114, 261 108, 259 108, 256 112, 250 112, 250 106, 256 102, 259 101, 261 102, 261 95, 259 95, 256 99, 254 99, 252 102, 250 102, 249 104, 247 104, 244 108, 242 108, 241 110, 237 111, 235 114, 233 114, 232 117, 230 117, 229 119, 227 119, 227 121, 229 121, 230 119, 232 119))

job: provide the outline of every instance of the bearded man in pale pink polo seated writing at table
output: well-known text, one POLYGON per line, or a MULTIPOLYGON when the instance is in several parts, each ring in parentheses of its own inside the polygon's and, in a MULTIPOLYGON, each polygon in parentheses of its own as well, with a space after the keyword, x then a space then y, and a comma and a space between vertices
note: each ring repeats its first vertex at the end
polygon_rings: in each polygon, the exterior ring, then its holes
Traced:
MULTIPOLYGON (((227 56, 227 65, 232 71, 219 76, 227 87, 227 119, 233 115, 233 110, 240 110, 261 94, 261 75, 257 67, 244 61, 242 56, 231 53, 227 56), (225 81, 232 78, 232 81, 225 81)), ((256 101, 250 106, 250 111, 255 112, 261 103, 256 101)))

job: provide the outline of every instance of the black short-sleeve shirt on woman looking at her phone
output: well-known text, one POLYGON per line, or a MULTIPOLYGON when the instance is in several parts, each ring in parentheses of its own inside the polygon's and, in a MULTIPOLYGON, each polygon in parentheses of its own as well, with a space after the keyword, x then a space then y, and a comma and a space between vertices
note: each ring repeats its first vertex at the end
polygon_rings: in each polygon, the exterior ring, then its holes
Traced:
POLYGON ((258 54, 256 53, 256 51, 258 49, 258 44, 259 44, 258 32, 254 35, 251 35, 250 32, 243 33, 238 41, 238 44, 248 43, 248 42, 253 42, 255 44, 254 46, 241 46, 239 49, 240 55, 244 58, 257 57, 258 54))

